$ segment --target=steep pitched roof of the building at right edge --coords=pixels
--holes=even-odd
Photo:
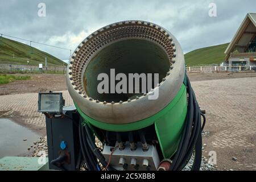
[[[235,48],[246,49],[249,42],[256,35],[256,13],[248,13],[243,19],[241,26],[238,28],[234,38],[226,48],[226,59],[229,59],[230,54]]]

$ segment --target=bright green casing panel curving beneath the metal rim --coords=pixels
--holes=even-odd
[[[185,117],[187,115],[187,90],[183,84],[174,100],[172,100],[164,109],[149,118],[124,125],[115,125],[97,121],[82,113],[76,104],[75,106],[87,124],[108,131],[133,131],[150,125],[155,125],[156,135],[158,136],[163,156],[164,158],[170,158],[177,150]]]

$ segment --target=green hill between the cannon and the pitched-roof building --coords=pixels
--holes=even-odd
[[[199,66],[203,64],[220,64],[225,61],[225,50],[229,43],[218,46],[204,47],[185,54],[187,66]]]

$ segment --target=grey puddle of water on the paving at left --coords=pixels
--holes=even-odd
[[[4,156],[17,156],[27,152],[27,148],[34,141],[40,138],[39,135],[20,126],[10,119],[0,119],[0,158]],[[23,141],[23,139],[27,139]]]

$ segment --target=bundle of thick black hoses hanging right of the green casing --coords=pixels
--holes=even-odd
[[[195,158],[192,165],[192,171],[198,171],[201,166],[202,155],[202,136],[201,132],[205,126],[205,116],[201,112],[199,104],[196,101],[195,93],[187,77],[187,93],[188,93],[188,112],[185,119],[183,133],[177,147],[170,170],[176,171],[183,169],[189,159],[191,158],[193,151],[195,151]],[[201,116],[204,119],[203,126],[201,126]]]

